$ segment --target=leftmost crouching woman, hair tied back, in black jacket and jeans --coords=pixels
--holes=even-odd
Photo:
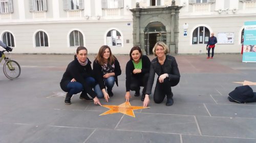
[[[63,77],[60,81],[60,88],[67,92],[65,104],[71,104],[70,100],[73,94],[82,92],[80,99],[86,101],[94,100],[95,104],[100,104],[97,94],[92,90],[95,87],[96,80],[92,77],[91,62],[87,58],[87,48],[78,47],[74,61],[69,63]],[[89,98],[87,93],[93,98]]]

